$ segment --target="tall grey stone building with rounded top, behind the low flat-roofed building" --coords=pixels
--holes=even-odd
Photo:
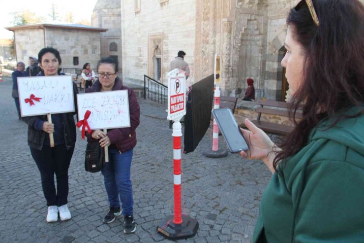
[[[108,29],[101,33],[101,57],[113,56],[122,73],[121,0],[98,0],[92,11],[91,25]]]

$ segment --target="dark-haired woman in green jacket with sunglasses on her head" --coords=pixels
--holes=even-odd
[[[253,242],[364,242],[364,6],[301,0],[287,25],[281,64],[303,118],[279,147],[245,120],[241,155],[273,173]]]

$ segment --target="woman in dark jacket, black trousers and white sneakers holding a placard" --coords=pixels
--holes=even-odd
[[[60,72],[61,56],[58,50],[48,47],[38,53],[41,72],[37,76],[57,76]],[[77,87],[73,84],[74,101]],[[75,106],[77,107],[77,105]],[[68,168],[76,142],[76,126],[73,115],[76,112],[52,114],[52,122],[47,115],[23,117],[28,124],[28,144],[42,181],[47,200],[47,222],[68,220],[71,213],[67,207]],[[49,134],[53,134],[54,147],[51,147]],[[57,190],[54,182],[57,179]]]

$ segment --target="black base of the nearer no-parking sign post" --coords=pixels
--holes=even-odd
[[[157,226],[157,231],[171,240],[187,239],[196,235],[198,222],[187,215],[182,215],[182,224],[173,223],[174,215],[164,217]],[[168,225],[166,226],[167,222]]]

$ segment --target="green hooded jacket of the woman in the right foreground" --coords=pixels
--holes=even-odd
[[[273,174],[253,243],[364,243],[364,115],[327,128]]]

